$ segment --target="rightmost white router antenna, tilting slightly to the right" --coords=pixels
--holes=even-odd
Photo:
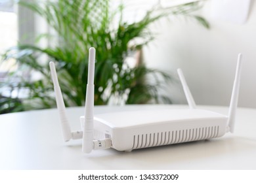
[[[238,63],[236,65],[236,76],[234,79],[234,85],[230,100],[230,107],[228,111],[228,127],[230,132],[234,132],[234,123],[235,123],[235,116],[236,116],[236,107],[238,105],[238,94],[239,94],[239,87],[240,87],[240,77],[241,77],[241,69],[242,68],[242,54],[238,54]]]

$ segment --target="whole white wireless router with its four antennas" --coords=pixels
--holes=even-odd
[[[239,54],[228,116],[196,108],[181,69],[178,69],[178,74],[190,108],[110,112],[94,116],[95,48],[90,48],[85,116],[80,117],[81,131],[70,130],[54,63],[51,62],[51,75],[64,141],[83,139],[82,150],[86,153],[106,148],[131,151],[211,139],[221,137],[228,131],[233,132],[240,86],[241,58],[242,55]]]

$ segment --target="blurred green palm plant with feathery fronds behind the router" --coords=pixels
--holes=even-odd
[[[110,1],[106,0],[20,1],[19,4],[42,16],[56,31],[57,36],[47,34],[41,39],[51,37],[58,44],[47,48],[22,44],[3,54],[2,62],[15,59],[23,69],[9,72],[9,77],[1,82],[0,88],[23,92],[23,97],[16,95],[14,99],[0,100],[0,113],[11,105],[14,111],[55,106],[49,61],[56,63],[66,106],[84,105],[87,58],[91,46],[96,48],[95,105],[105,105],[113,97],[126,104],[158,103],[160,100],[170,103],[168,97],[158,94],[158,88],[171,80],[171,76],[148,69],[141,61],[131,67],[125,58],[154,39],[148,27],[160,18],[182,14],[209,27],[202,17],[190,14],[200,8],[198,2],[170,8],[156,7],[148,10],[140,21],[131,24],[122,19],[123,5],[113,11],[110,10]],[[132,44],[138,39],[139,43]],[[47,56],[47,61],[41,61],[43,55]],[[40,77],[33,80],[28,77],[30,75],[24,75],[31,72],[39,73]],[[153,76],[154,84],[147,82],[148,75]]]

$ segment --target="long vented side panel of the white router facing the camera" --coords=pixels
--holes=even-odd
[[[133,150],[181,142],[221,137],[227,119],[182,121],[112,129],[112,146],[116,150]]]

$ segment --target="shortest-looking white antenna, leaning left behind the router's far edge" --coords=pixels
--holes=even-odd
[[[192,95],[190,93],[190,90],[188,88],[188,84],[186,84],[186,80],[184,78],[184,75],[183,75],[181,69],[177,69],[177,72],[178,72],[179,78],[181,80],[182,88],[183,88],[184,93],[186,95],[186,101],[188,101],[188,106],[190,108],[196,108],[196,103],[195,103],[194,98],[192,97]]]

